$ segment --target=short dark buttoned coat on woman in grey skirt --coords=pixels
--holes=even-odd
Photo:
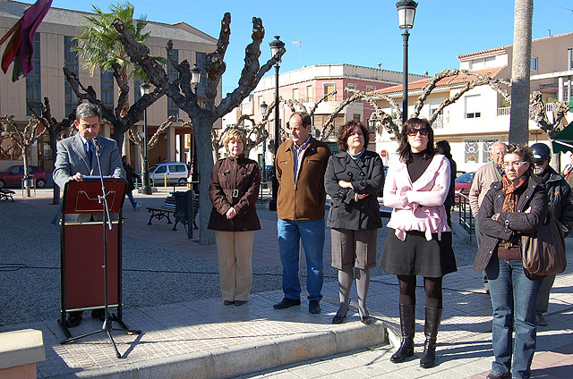
[[[349,181],[353,189],[343,189],[338,181]],[[346,151],[330,156],[324,175],[324,188],[329,194],[327,226],[349,230],[382,227],[376,193],[384,187],[384,166],[378,154],[364,151],[357,164]],[[355,202],[355,193],[370,194]]]

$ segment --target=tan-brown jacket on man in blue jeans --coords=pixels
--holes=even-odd
[[[278,147],[275,167],[279,183],[277,215],[282,220],[320,220],[324,217],[326,191],[324,173],[329,164],[330,147],[311,137],[304,150],[295,186],[293,141]]]

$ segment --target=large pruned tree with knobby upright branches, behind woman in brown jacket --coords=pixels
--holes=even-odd
[[[169,81],[169,77],[164,68],[155,60],[150,59],[150,49],[147,46],[138,43],[119,19],[114,21],[115,29],[120,33],[120,40],[124,44],[125,51],[131,57],[132,62],[141,66],[141,69],[150,82],[161,90],[165,91],[168,97],[175,104],[183,109],[189,115],[195,132],[197,159],[199,164],[199,173],[202,178],[209,178],[213,167],[213,156],[211,154],[211,130],[213,124],[223,115],[228,114],[241,104],[257,86],[265,72],[268,72],[273,64],[280,61],[285,54],[285,48],[281,48],[277,55],[272,56],[264,65],[259,64],[261,55],[261,42],[265,35],[262,27],[262,21],[259,18],[252,18],[252,43],[245,48],[244,68],[241,72],[238,86],[227,94],[219,104],[216,104],[218,95],[218,86],[226,70],[224,62],[225,53],[229,44],[231,14],[225,13],[221,21],[217,48],[214,52],[208,54],[205,59],[205,71],[207,72],[205,88],[205,107],[201,108],[197,101],[197,94],[193,92],[191,84],[191,67],[190,63],[184,60],[181,63],[176,62],[172,54],[172,43],[167,44],[167,60],[173,65],[178,73],[177,78]],[[205,148],[206,147],[206,148]],[[200,184],[200,237],[199,242],[202,245],[214,243],[214,234],[207,229],[209,223],[211,203],[209,196],[209,181],[203,180]]]

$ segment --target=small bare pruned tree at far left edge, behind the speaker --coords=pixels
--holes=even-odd
[[[34,119],[28,120],[28,124],[24,127],[23,131],[18,129],[18,123],[14,121],[14,116],[4,115],[0,118],[0,123],[2,124],[2,129],[8,133],[8,137],[12,139],[13,143],[21,148],[21,156],[24,164],[24,188],[28,191],[28,196],[30,196],[30,182],[27,181],[30,178],[30,146],[36,142],[40,137],[44,135],[47,131],[44,128],[43,131],[37,132],[40,122]]]

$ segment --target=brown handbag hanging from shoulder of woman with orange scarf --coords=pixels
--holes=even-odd
[[[521,236],[521,261],[532,280],[561,274],[567,268],[565,235],[552,209],[537,231]]]

